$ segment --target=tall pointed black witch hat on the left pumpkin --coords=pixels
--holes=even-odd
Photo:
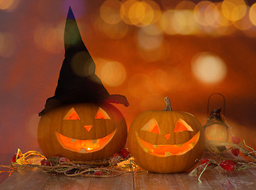
[[[67,13],[64,44],[65,59],[59,72],[55,95],[48,98],[39,116],[53,108],[75,103],[109,102],[128,106],[126,97],[118,94],[109,95],[100,78],[95,74],[94,60],[82,42],[71,7]]]

